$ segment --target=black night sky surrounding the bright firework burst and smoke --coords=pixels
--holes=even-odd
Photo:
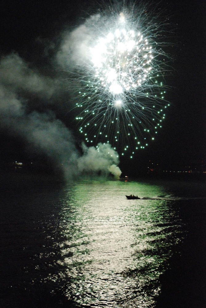
[[[147,149],[139,151],[132,161],[121,161],[120,166],[127,164],[131,169],[146,164],[149,160],[174,166],[205,162],[206,158],[206,3],[203,0],[172,0],[169,5],[162,2],[161,6],[163,10],[166,9],[169,12],[170,22],[175,29],[174,48],[172,48],[174,71],[173,77],[168,79],[170,83],[168,85],[172,89],[168,91],[167,97],[171,107],[168,109],[167,120],[156,141]],[[11,59],[13,55],[13,62],[11,60],[8,63],[3,62],[4,64],[0,67],[1,91],[6,89],[6,94],[0,97],[0,156],[2,160],[30,160],[34,156],[38,159],[45,156],[54,158],[51,152],[55,151],[55,145],[47,155],[41,147],[39,149],[38,142],[28,138],[25,132],[22,133],[24,127],[27,127],[27,131],[32,130],[32,125],[34,129],[37,129],[37,122],[34,123],[33,119],[32,124],[28,124],[31,112],[38,111],[43,114],[48,113],[48,110],[52,111],[51,117],[55,114],[57,119],[73,131],[68,104],[71,97],[67,93],[67,74],[61,75],[51,66],[51,62],[55,61],[62,33],[81,25],[84,18],[96,12],[96,9],[98,9],[96,2],[83,0],[73,4],[63,0],[35,2],[7,0],[1,2],[1,59]],[[26,84],[29,79],[17,81],[20,72],[19,68],[17,69],[17,62],[18,67],[21,67],[21,74],[23,70],[27,76],[31,75],[30,71],[34,75],[43,76],[40,81],[38,80],[37,93],[34,90],[31,91],[31,83],[34,79],[30,79],[30,84]],[[25,63],[27,63],[26,66]],[[6,71],[10,73],[7,75]],[[14,72],[13,79],[12,71]],[[50,84],[49,78],[58,79],[59,82],[55,84],[56,93],[58,93],[56,100],[54,99],[55,94],[50,93],[53,83]],[[41,82],[41,87],[45,85],[46,91],[40,87]],[[14,97],[11,97],[11,93],[14,92],[18,95],[15,99],[21,99],[21,106]],[[46,95],[43,95],[43,92]],[[5,101],[8,97],[12,103],[5,110]],[[18,121],[15,118],[15,112],[18,114],[22,112],[20,110],[22,106],[26,114],[24,124],[19,123],[21,120]],[[58,147],[58,144],[56,146]]]

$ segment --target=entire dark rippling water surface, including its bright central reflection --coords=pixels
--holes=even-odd
[[[203,182],[1,187],[1,307],[206,307]]]

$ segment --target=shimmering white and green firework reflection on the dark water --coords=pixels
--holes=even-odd
[[[157,185],[82,181],[62,200],[60,225],[65,294],[79,307],[152,307],[158,278],[183,237],[171,200]],[[54,278],[50,278],[54,279]]]

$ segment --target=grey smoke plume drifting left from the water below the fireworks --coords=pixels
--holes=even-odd
[[[51,110],[51,102],[61,105],[63,99],[68,100],[69,93],[62,97],[62,87],[61,78],[42,75],[18,54],[2,57],[0,129],[23,138],[28,151],[46,155],[54,166],[61,167],[67,180],[84,174],[112,174],[118,178],[121,171],[114,149],[108,144],[99,144],[98,148],[82,145],[83,154],[80,153],[74,134]],[[39,106],[44,111],[39,111]]]

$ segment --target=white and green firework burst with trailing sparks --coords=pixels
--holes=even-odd
[[[81,44],[73,51],[72,73],[75,119],[87,146],[108,143],[131,158],[155,140],[169,106],[165,22],[134,12],[96,14],[74,31]]]

